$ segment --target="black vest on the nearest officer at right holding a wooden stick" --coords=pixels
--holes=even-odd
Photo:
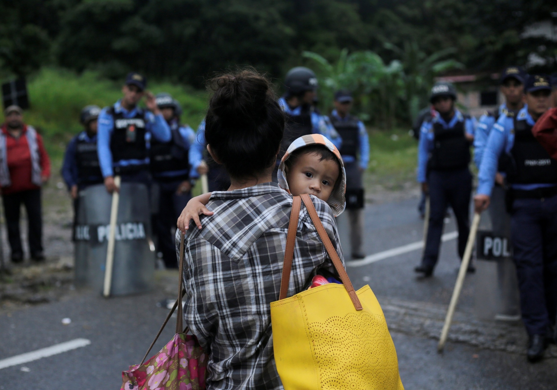
[[[512,166],[507,170],[511,184],[557,183],[557,161],[535,139],[526,120],[514,120],[515,142],[512,145]]]

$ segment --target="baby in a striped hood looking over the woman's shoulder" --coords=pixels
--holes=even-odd
[[[323,135],[311,134],[297,138],[290,144],[278,166],[278,185],[290,194],[311,194],[325,201],[334,216],[344,211],[346,174],[343,160],[335,145]],[[201,229],[199,215],[213,215],[205,205],[211,192],[190,199],[178,219],[183,233],[193,219]]]

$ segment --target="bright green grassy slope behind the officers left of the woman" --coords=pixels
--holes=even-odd
[[[205,115],[207,95],[189,87],[153,82],[153,93],[171,93],[182,105],[182,122],[197,129]],[[95,72],[73,72],[45,68],[28,82],[31,109],[25,121],[37,127],[45,139],[48,153],[59,164],[67,142],[82,130],[81,109],[89,104],[105,107],[121,97],[121,83],[101,78]],[[3,114],[0,114],[3,121]]]

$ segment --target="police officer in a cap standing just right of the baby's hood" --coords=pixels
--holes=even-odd
[[[346,171],[346,209],[350,218],[352,259],[363,259],[365,255],[361,251],[361,241],[364,231],[364,189],[361,176],[368,167],[369,140],[364,124],[350,115],[352,102],[349,91],[337,91],[335,110],[331,112],[329,119],[343,139],[339,151]]]

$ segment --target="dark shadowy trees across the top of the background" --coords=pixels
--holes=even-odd
[[[523,65],[534,53],[551,72],[554,37],[524,32],[555,23],[554,12],[548,0],[3,1],[0,74],[63,66],[121,78],[135,70],[199,88],[231,66],[282,77],[303,51],[334,61],[343,48],[371,50],[384,63],[404,62],[400,51],[423,52],[419,60],[450,49],[485,72]]]

